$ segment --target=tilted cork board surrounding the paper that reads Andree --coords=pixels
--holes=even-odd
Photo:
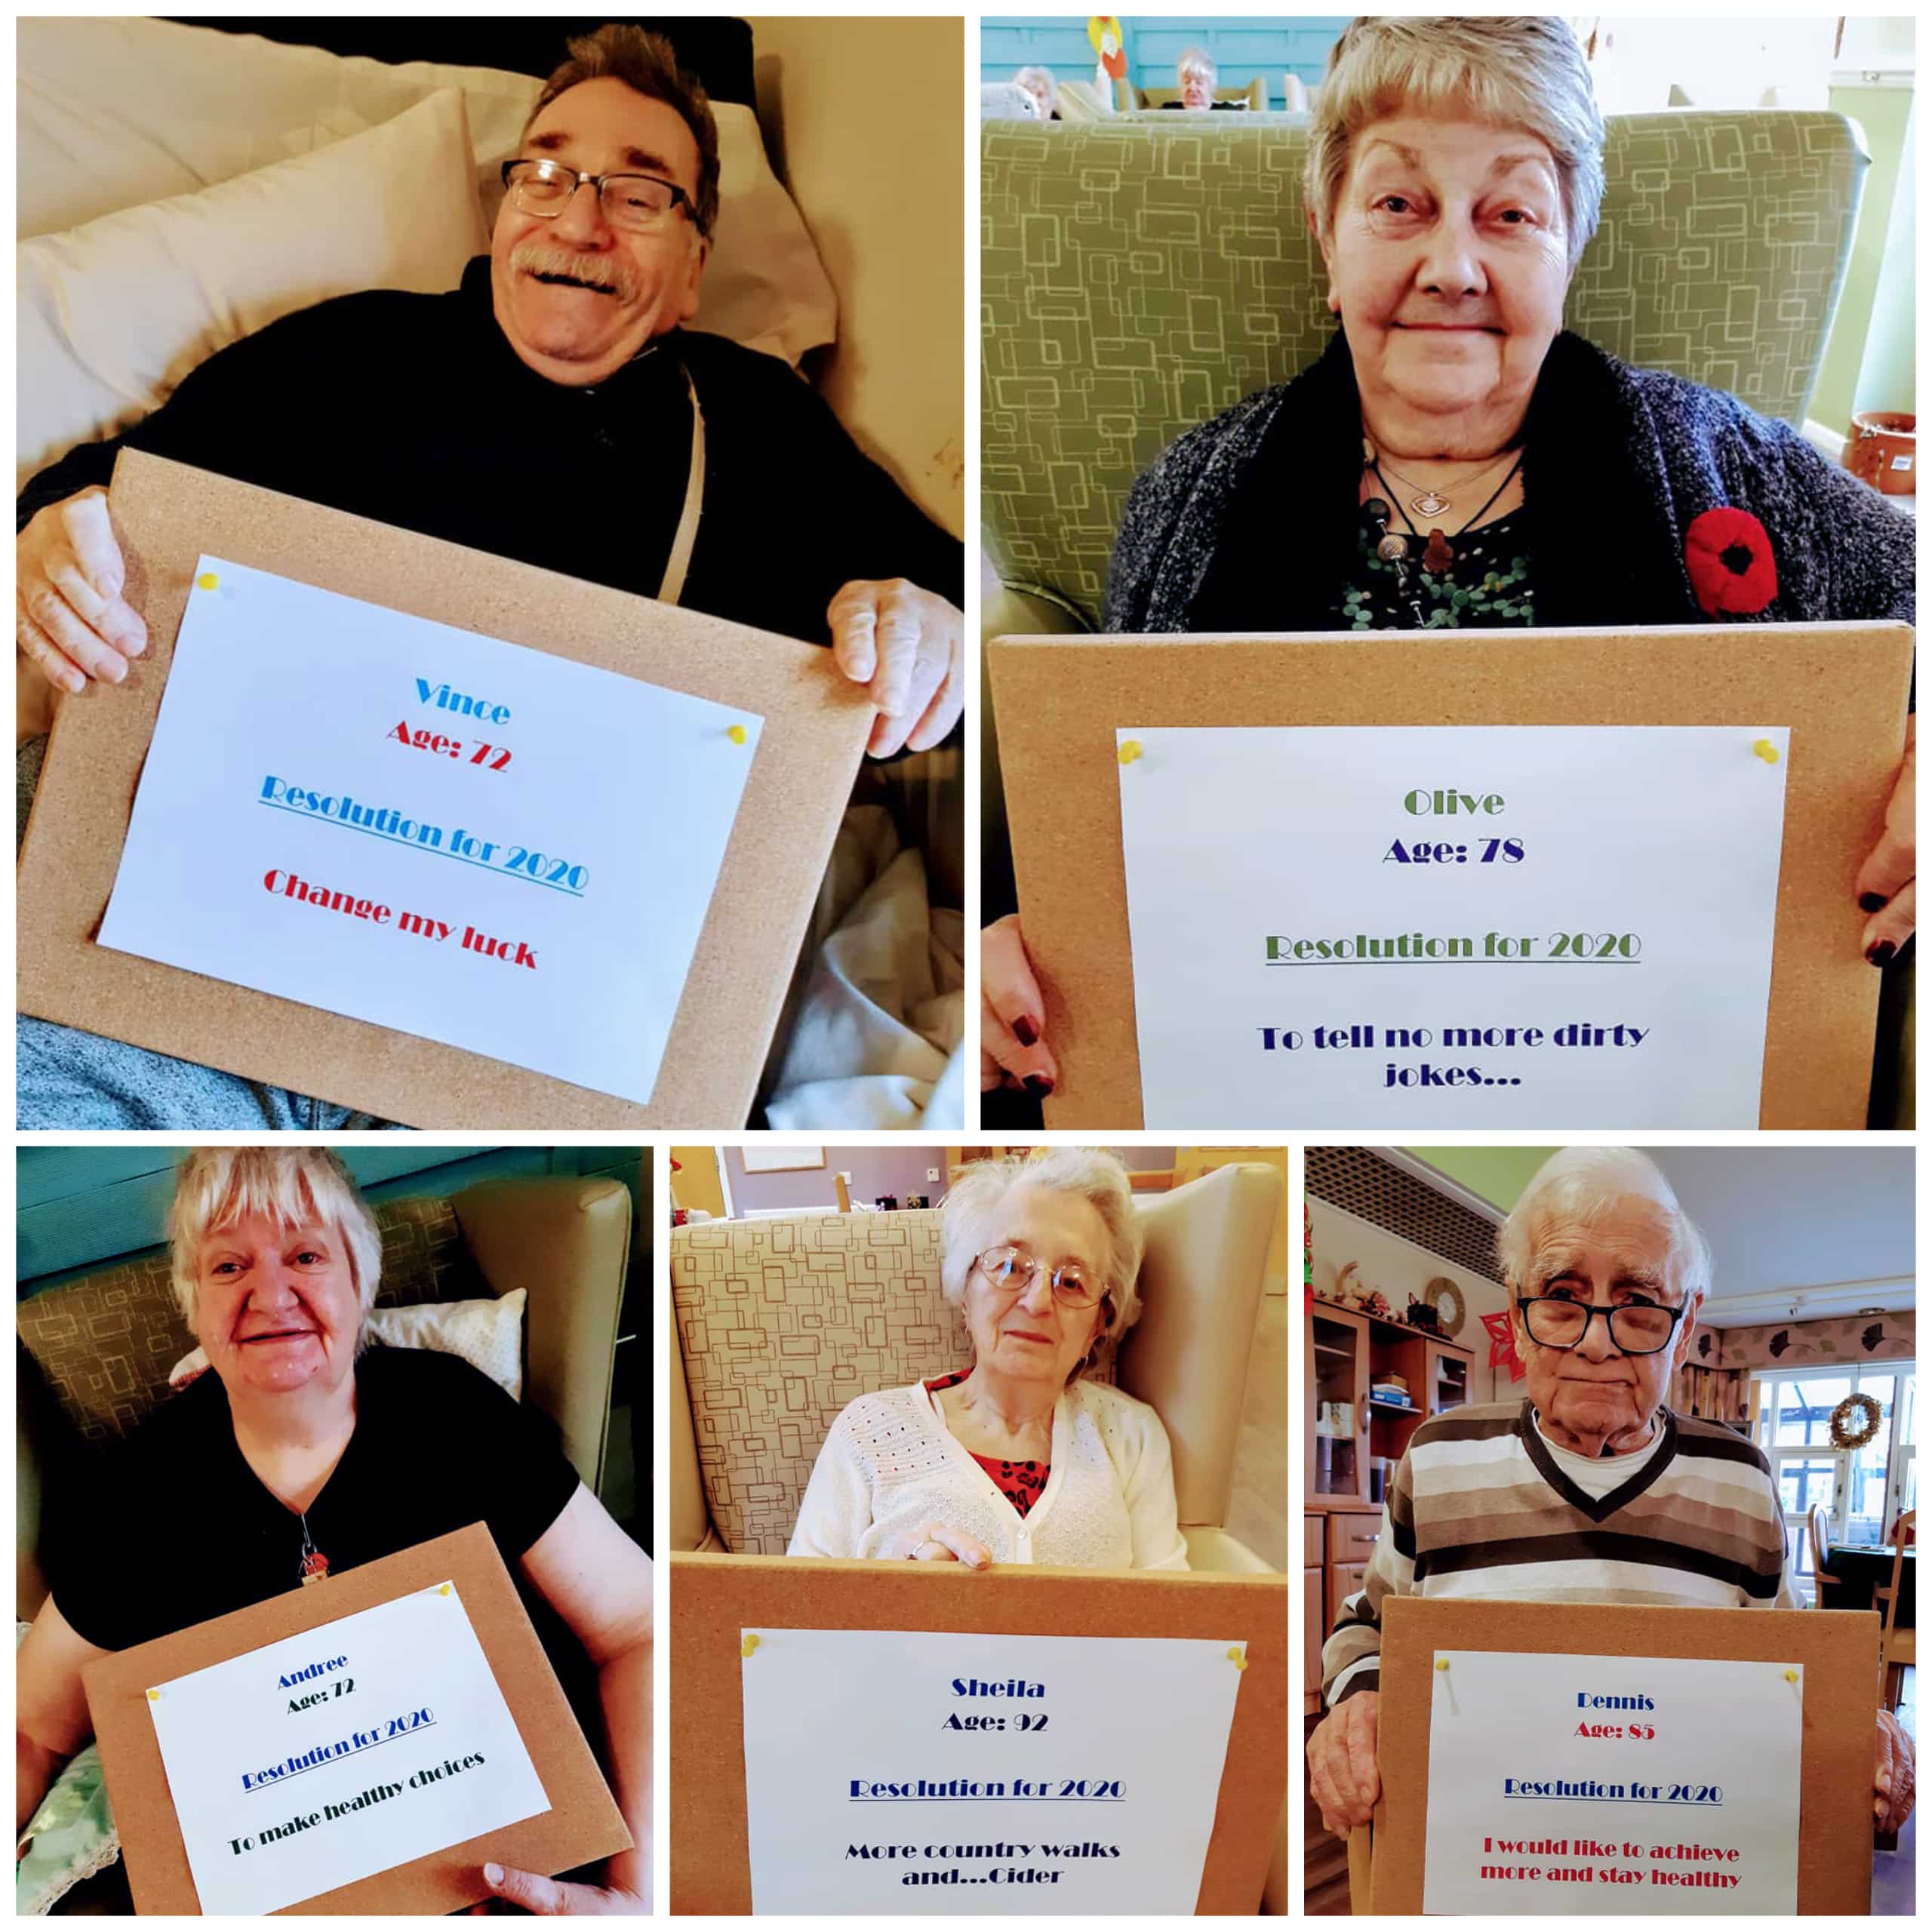
[[[267,1604],[197,1623],[191,1631],[116,1650],[81,1671],[137,1913],[201,1913],[149,1716],[149,1685],[185,1677],[437,1582],[456,1584],[551,1808],[284,1911],[454,1913],[491,1897],[483,1884],[485,1859],[554,1876],[630,1849],[624,1818],[524,1615],[510,1573],[489,1530],[471,1522],[313,1588],[296,1588]]]

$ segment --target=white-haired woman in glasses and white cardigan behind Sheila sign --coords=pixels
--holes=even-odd
[[[788,1553],[1186,1569],[1161,1418],[1092,1374],[1140,1314],[1126,1171],[1084,1148],[976,1163],[941,1225],[972,1368],[846,1405]]]

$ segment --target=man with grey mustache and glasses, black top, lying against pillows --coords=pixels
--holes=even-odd
[[[56,694],[118,684],[147,645],[102,489],[122,446],[829,643],[877,705],[877,757],[952,730],[960,545],[779,357],[684,327],[719,145],[670,44],[638,27],[574,41],[504,182],[491,253],[456,292],[375,290],[284,317],[27,485],[15,742],[48,728]],[[116,1065],[81,1065],[79,1037],[21,1026],[21,1092],[46,1090],[48,1124],[263,1124],[236,1095],[214,1117],[222,1076],[112,1041],[95,1045]],[[75,1088],[112,1088],[112,1117],[81,1119]],[[294,1099],[267,1105],[267,1124],[361,1124]]]

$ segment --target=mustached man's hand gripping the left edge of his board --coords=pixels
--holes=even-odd
[[[108,520],[108,493],[50,502],[14,539],[14,641],[54,690],[89,678],[120,684],[147,649],[147,626],[122,601],[128,566]],[[50,707],[48,707],[50,709]]]

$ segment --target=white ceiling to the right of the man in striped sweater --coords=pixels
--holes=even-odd
[[[1917,1306],[1911,1148],[1646,1148],[1710,1238],[1704,1320]]]

